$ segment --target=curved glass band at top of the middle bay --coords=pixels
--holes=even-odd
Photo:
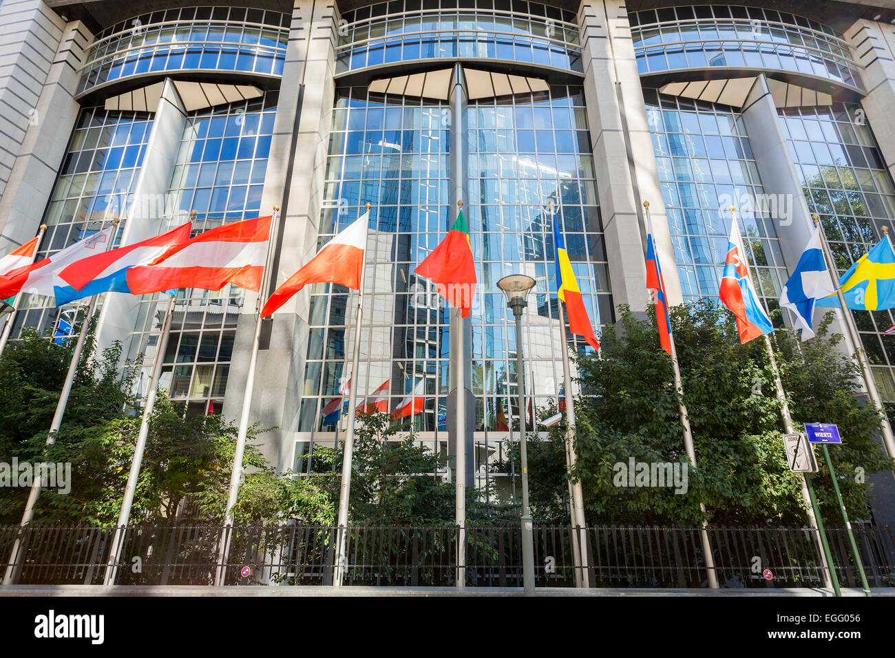
[[[337,73],[420,59],[499,59],[581,73],[575,13],[524,0],[372,4],[342,14]]]

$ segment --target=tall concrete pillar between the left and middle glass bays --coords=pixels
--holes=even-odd
[[[277,205],[282,212],[276,259],[269,272],[274,277],[273,286],[283,283],[317,252],[335,97],[336,30],[337,13],[332,2],[295,0],[261,201],[263,214],[272,212]],[[309,286],[289,300],[267,323],[262,335],[251,417],[263,428],[278,428],[264,434],[261,448],[280,470],[292,467],[307,351],[310,291]],[[236,329],[234,361],[222,412],[228,418],[238,417],[243,404],[241,384],[248,369],[257,296],[246,295]],[[346,345],[352,339],[346,335]]]

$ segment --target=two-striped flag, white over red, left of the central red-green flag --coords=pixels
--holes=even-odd
[[[354,220],[317,252],[311,261],[279,286],[261,309],[261,317],[275,312],[288,299],[309,283],[337,283],[359,290],[363,272],[363,254],[367,249],[367,225],[370,213]]]

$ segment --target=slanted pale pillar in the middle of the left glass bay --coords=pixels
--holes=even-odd
[[[152,119],[140,174],[137,175],[127,208],[123,209],[124,228],[119,242],[122,246],[164,233],[189,219],[187,214],[181,216],[173,209],[168,195],[185,127],[186,109],[174,82],[168,78]],[[176,214],[167,215],[168,212]],[[97,322],[97,346],[100,351],[111,346],[115,340],[120,340],[124,344],[124,355],[128,354],[127,343],[132,339],[133,320],[140,310],[140,300],[139,295],[110,294],[103,298]],[[151,363],[151,359],[152,355],[147,354],[146,363]]]

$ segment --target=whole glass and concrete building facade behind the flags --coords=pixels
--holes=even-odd
[[[618,304],[649,303],[643,201],[672,304],[717,295],[730,206],[771,309],[812,213],[840,271],[891,226],[895,10],[883,4],[3,0],[0,253],[42,223],[47,255],[111,218],[130,244],[191,211],[199,232],[278,206],[266,275],[276,286],[369,203],[358,372],[346,347],[354,291],[309,286],[286,303],[265,325],[252,400],[252,417],[277,428],[265,453],[309,471],[304,455],[337,444],[323,409],[350,379],[360,396],[385,385],[391,407],[418,391],[420,440],[450,453],[459,433],[471,483],[507,491],[507,427],[526,410],[496,284],[537,282],[525,389],[533,406],[557,400],[554,218],[596,325],[613,323]],[[463,321],[413,274],[458,201],[479,280]],[[256,295],[178,296],[163,385],[191,413],[234,418]],[[144,379],[161,297],[99,304],[100,344],[142,355]],[[26,295],[20,308],[13,337],[82,320],[77,303]],[[855,318],[895,404],[895,335],[884,333],[895,320]],[[463,382],[449,367],[457,331]],[[473,411],[460,432],[448,413],[457,389]]]

